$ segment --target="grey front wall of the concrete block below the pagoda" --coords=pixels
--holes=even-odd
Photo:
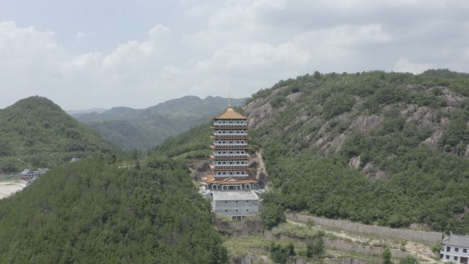
[[[217,200],[213,201],[215,215],[254,216],[259,213],[259,200]]]

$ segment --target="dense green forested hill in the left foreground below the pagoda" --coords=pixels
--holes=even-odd
[[[226,263],[187,166],[88,156],[0,200],[0,263]]]

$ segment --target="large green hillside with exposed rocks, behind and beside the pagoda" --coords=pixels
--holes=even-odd
[[[242,109],[269,173],[265,200],[365,224],[469,232],[468,96],[469,75],[448,70],[316,72],[259,91]],[[155,151],[207,151],[187,134]]]

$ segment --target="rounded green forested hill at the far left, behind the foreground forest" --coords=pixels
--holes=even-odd
[[[29,97],[0,110],[0,171],[53,167],[89,152],[119,148],[49,99]]]

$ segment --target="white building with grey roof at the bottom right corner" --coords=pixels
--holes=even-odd
[[[440,257],[443,262],[468,264],[469,236],[456,235],[453,232],[442,240]]]

